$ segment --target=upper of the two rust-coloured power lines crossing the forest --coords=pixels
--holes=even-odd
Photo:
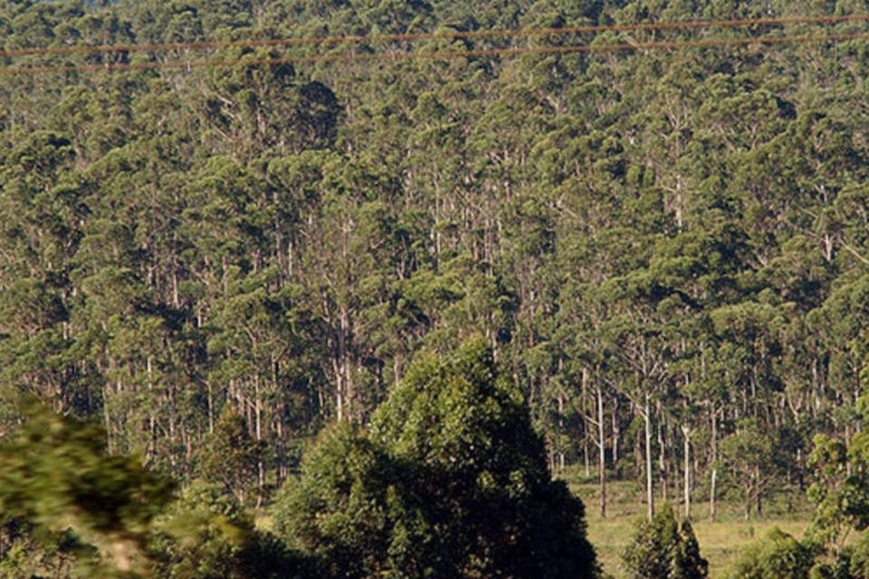
[[[740,20],[687,20],[683,22],[658,22],[640,24],[597,24],[562,28],[498,29],[478,31],[454,31],[448,33],[396,33],[372,35],[309,36],[298,38],[252,39],[239,41],[204,41],[191,43],[145,43],[101,44],[93,46],[55,46],[46,48],[18,48],[0,50],[0,57],[49,56],[104,52],[167,52],[175,50],[204,50],[213,48],[244,48],[263,46],[321,45],[340,43],[387,43],[435,39],[465,38],[510,38],[518,36],[541,36],[548,34],[581,34],[605,32],[698,30],[703,28],[745,28],[749,26],[773,26],[785,24],[839,24],[867,22],[869,14],[791,16],[783,18],[746,18]]]

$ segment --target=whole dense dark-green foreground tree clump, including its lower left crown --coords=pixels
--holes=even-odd
[[[329,429],[275,510],[350,577],[597,576],[583,514],[482,340],[419,356],[368,435]]]

